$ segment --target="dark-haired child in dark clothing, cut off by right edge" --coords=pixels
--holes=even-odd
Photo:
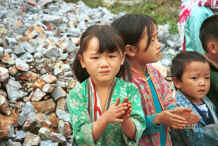
[[[218,113],[218,15],[207,18],[201,25],[200,40],[205,50],[204,57],[210,63],[210,90],[208,98],[215,104]]]

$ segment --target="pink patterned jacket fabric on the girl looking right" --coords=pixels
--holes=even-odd
[[[163,110],[167,110],[169,106],[176,105],[176,99],[173,98],[173,93],[170,90],[169,83],[164,79],[160,72],[152,67],[152,65],[147,65],[148,73],[150,79],[152,80],[157,95],[159,97],[159,102],[163,106]],[[131,70],[132,82],[136,84],[139,88],[141,94],[142,108],[146,115],[156,114],[156,110],[153,106],[153,98],[149,95],[149,85],[145,84],[145,78],[141,76],[138,72]],[[147,82],[147,80],[146,80]],[[168,128],[167,128],[168,129]],[[166,129],[166,146],[172,146],[171,138],[169,136],[168,130]],[[140,146],[160,146],[160,133],[152,133],[146,136],[142,136]]]

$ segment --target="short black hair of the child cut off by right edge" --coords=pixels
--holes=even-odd
[[[206,52],[208,41],[218,41],[218,15],[213,15],[202,23],[200,29],[200,40]]]

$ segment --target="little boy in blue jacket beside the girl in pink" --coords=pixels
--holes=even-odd
[[[199,115],[200,121],[184,130],[172,130],[175,146],[217,146],[217,115],[213,103],[206,97],[210,89],[210,66],[197,52],[182,52],[172,61],[171,74],[175,87],[177,104],[188,107]],[[191,118],[191,117],[190,117]],[[211,127],[208,129],[207,125]]]

